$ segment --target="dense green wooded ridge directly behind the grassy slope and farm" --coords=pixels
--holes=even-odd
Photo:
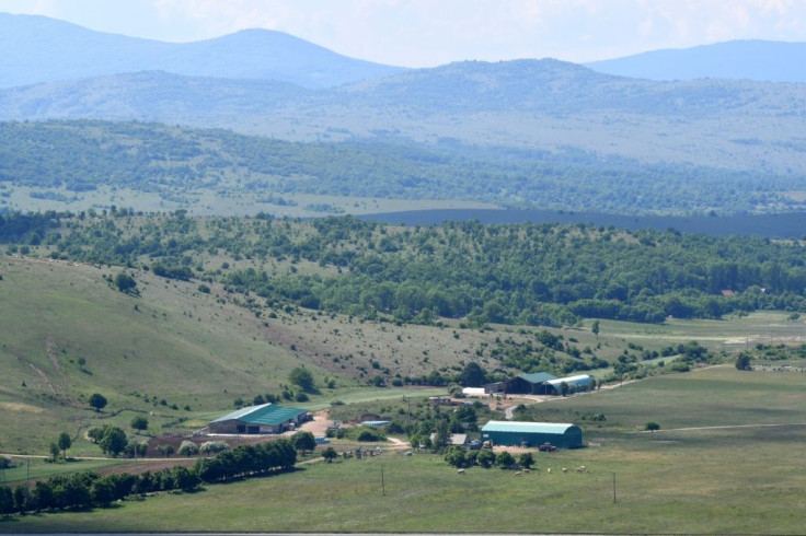
[[[658,323],[806,311],[801,241],[585,224],[199,219],[125,209],[7,214],[0,241],[9,254],[222,283],[250,296],[245,304],[258,313],[296,304],[406,323],[449,317],[470,326],[557,326],[583,317]],[[278,263],[287,268],[278,270]]]

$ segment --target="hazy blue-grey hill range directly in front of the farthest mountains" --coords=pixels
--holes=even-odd
[[[452,155],[482,147],[503,163],[511,150],[583,152],[764,182],[806,175],[804,103],[803,84],[653,82],[555,60],[467,61],[327,90],[168,73],[60,81],[0,91],[0,119],[159,121],[289,141],[415,142]]]

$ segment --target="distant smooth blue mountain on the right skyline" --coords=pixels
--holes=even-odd
[[[648,80],[733,79],[806,82],[806,43],[730,40],[654,50],[586,63],[595,71]]]

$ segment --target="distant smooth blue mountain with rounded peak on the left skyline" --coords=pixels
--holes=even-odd
[[[38,15],[0,13],[0,88],[140,71],[275,80],[332,88],[401,72],[347,58],[281,32],[245,30],[195,43],[94,32]]]

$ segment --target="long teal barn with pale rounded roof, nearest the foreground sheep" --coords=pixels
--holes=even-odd
[[[559,448],[578,448],[583,446],[583,431],[567,423],[490,421],[482,428],[482,441],[491,441],[494,445],[551,443]]]

